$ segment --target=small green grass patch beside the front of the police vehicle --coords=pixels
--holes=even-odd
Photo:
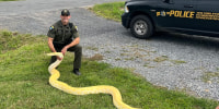
[[[96,4],[91,10],[105,19],[120,21],[120,15],[124,13],[125,2],[113,2],[113,3],[103,3]]]

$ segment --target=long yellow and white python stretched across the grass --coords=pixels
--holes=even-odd
[[[58,56],[60,58],[64,58],[61,52],[47,53],[47,56]],[[58,81],[60,73],[55,68],[58,66],[61,60],[57,60],[48,66],[48,72],[50,73],[49,84],[51,86],[73,95],[88,95],[99,93],[111,94],[113,96],[114,106],[116,106],[118,109],[136,109],[123,102],[119,90],[114,86],[99,85],[90,87],[71,87],[68,84]]]

